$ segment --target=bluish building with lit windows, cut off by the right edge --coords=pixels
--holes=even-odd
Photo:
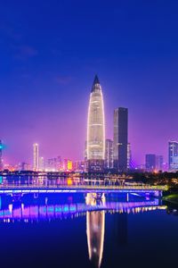
[[[169,171],[174,172],[178,170],[178,142],[169,141],[168,143],[168,163]]]

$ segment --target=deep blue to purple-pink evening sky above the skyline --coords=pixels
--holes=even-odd
[[[178,1],[6,0],[0,4],[0,138],[8,163],[83,159],[98,74],[107,138],[129,111],[134,163],[178,139]]]

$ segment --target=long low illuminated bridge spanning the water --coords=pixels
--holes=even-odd
[[[103,186],[103,185],[1,185],[2,194],[40,194],[40,193],[144,193],[160,197],[162,191],[166,191],[166,186]]]

